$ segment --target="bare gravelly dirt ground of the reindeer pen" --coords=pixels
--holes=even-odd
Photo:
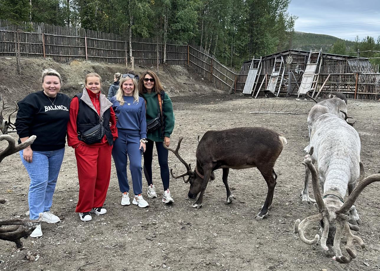
[[[42,224],[41,238],[24,240],[25,249],[0,240],[0,268],[4,270],[380,270],[380,184],[367,187],[355,206],[363,220],[357,234],[366,243],[358,248],[358,257],[348,265],[325,257],[320,243],[309,246],[293,234],[294,221],[316,214],[312,206],[302,205],[303,149],[307,145],[307,114],[250,114],[252,111],[297,110],[308,112],[313,102],[285,99],[234,99],[203,92],[172,95],[176,125],[171,147],[184,136],[180,154],[195,165],[197,136],[208,130],[242,126],[263,126],[285,135],[288,144],[275,170],[278,175],[273,209],[269,217],[256,221],[254,216],[263,205],[266,183],[256,169],[230,170],[229,184],[236,196],[225,205],[226,191],[222,170],[215,171],[205,192],[203,207],[192,208],[195,200],[187,199],[189,184],[171,178],[173,205],[161,199],[147,199],[149,208],[120,205],[121,194],[112,162],[111,183],[105,208],[108,213],[82,222],[74,213],[78,200],[78,175],[73,149],[67,147],[54,194],[52,212],[61,218],[57,224]],[[361,161],[367,176],[379,173],[380,103],[348,101],[348,112],[355,117],[361,138]],[[16,135],[13,134],[16,138]],[[247,139],[249,140],[249,139]],[[0,149],[5,144],[0,143]],[[156,155],[156,154],[154,154]],[[154,183],[161,194],[157,156],[154,156]],[[185,167],[169,154],[169,167],[179,174]],[[27,217],[29,178],[17,154],[0,164],[1,218]],[[128,176],[130,174],[128,173]],[[311,186],[311,185],[310,185]],[[143,180],[146,189],[146,181]],[[310,188],[311,189],[311,188]],[[317,224],[307,233],[318,232]],[[345,240],[342,241],[342,244]],[[344,251],[344,245],[342,245]],[[35,261],[27,259],[32,255]],[[37,256],[38,255],[38,256]],[[29,257],[30,258],[30,257]],[[86,265],[88,264],[88,265]]]

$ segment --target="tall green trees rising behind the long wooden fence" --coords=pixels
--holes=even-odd
[[[5,19],[28,21],[29,0],[0,0]],[[253,56],[289,49],[290,0],[32,0],[32,20],[129,37],[194,41],[239,67]]]

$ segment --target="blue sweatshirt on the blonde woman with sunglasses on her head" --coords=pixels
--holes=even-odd
[[[133,102],[133,96],[123,96],[123,99],[124,104],[121,106],[115,96],[111,98],[112,109],[117,117],[117,129],[127,134],[139,134],[141,138],[146,138],[146,109],[144,99],[139,97],[138,103]]]

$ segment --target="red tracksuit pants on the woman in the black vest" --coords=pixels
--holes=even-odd
[[[111,178],[111,152],[108,143],[102,147],[79,145],[75,149],[79,179],[77,213],[103,206]]]

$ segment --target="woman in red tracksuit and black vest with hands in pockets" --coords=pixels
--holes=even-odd
[[[82,221],[90,221],[90,213],[107,213],[103,203],[111,177],[112,145],[117,138],[115,112],[112,103],[100,93],[100,82],[101,77],[97,73],[86,75],[83,93],[71,100],[67,124],[67,143],[75,149],[78,166],[79,200],[76,212]],[[105,131],[100,142],[83,142],[81,135],[100,123]]]

